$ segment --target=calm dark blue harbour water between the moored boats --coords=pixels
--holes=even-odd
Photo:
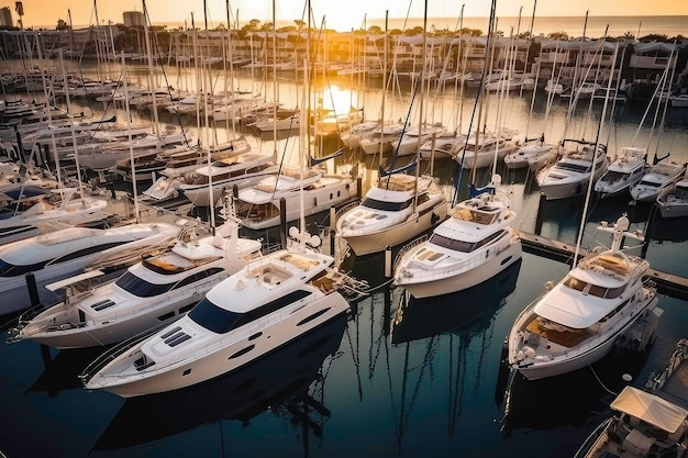
[[[289,83],[280,89],[296,94]],[[370,91],[366,105],[376,107],[379,97]],[[466,116],[471,97],[466,94]],[[406,108],[403,96],[393,102],[396,116],[408,109],[408,97]],[[435,107],[443,104],[437,115],[450,120],[454,96],[440,94],[436,102]],[[552,138],[563,135],[564,101],[555,101],[545,119],[541,94],[529,123],[530,103],[528,96],[509,99],[510,127],[518,129],[519,135],[526,129]],[[609,138],[610,154],[629,144],[645,108],[640,102],[617,108],[612,130],[602,133]],[[582,127],[581,120],[599,119],[601,104],[579,111],[577,135],[587,129],[585,136],[592,137],[597,124]],[[134,121],[145,118],[134,114]],[[206,138],[193,124],[195,120],[185,122],[192,135]],[[220,129],[222,135],[228,133]],[[653,135],[655,141],[658,135]],[[293,155],[293,161],[298,148],[292,138],[276,146],[280,154]],[[639,138],[652,139],[647,125]],[[686,109],[667,112],[661,138],[661,156],[670,150],[674,160],[688,160]],[[273,147],[267,138],[254,139]],[[329,150],[335,147],[326,145]],[[378,164],[364,156],[347,152],[332,167],[358,164],[367,182]],[[447,194],[460,177],[459,196],[466,196],[468,174],[456,169],[454,163],[437,163],[434,170]],[[481,171],[478,185],[487,182],[489,175]],[[540,211],[543,236],[576,242],[582,200],[546,202],[539,209],[532,176],[504,171],[503,177],[511,186],[522,231],[534,232]],[[650,205],[629,205],[628,198],[593,200],[581,245],[609,245],[608,234],[596,233],[595,227],[600,221],[615,221],[622,212],[629,213],[631,228],[645,230],[650,211]],[[655,222],[647,250],[654,268],[688,276],[685,222]],[[517,377],[507,390],[501,365],[504,336],[521,310],[544,291],[544,283],[564,277],[566,264],[526,253],[519,265],[486,283],[419,301],[384,286],[382,256],[346,262],[353,276],[379,286],[352,304],[347,320],[333,322],[235,375],[179,393],[125,401],[89,392],[77,376],[99,349],[57,351],[30,342],[0,343],[0,451],[10,458],[567,457],[610,414],[612,392],[623,384],[621,375],[630,373],[632,383],[642,386],[664,368],[688,329],[688,304],[663,295],[658,306],[664,314],[646,351],[615,351],[592,369],[550,380]],[[3,329],[13,324],[11,317],[2,323]]]

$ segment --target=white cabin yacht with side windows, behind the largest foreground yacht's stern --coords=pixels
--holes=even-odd
[[[282,167],[279,174],[240,190],[236,213],[242,225],[264,230],[279,225],[281,199],[286,205],[285,221],[291,222],[300,217],[301,211],[309,216],[348,202],[357,194],[356,182],[349,176]]]

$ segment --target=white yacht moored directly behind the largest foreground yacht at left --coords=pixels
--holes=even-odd
[[[197,238],[192,228],[182,231],[171,248],[145,257],[115,281],[85,290],[65,284],[64,301],[22,314],[10,339],[60,349],[122,342],[178,320],[259,255],[260,242],[240,238],[234,221],[218,227],[214,236]]]

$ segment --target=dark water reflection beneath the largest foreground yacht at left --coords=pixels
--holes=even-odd
[[[152,443],[214,422],[222,429],[223,420],[237,420],[247,427],[266,410],[300,427],[308,449],[308,438],[320,437],[330,417],[323,387],[346,323],[347,315],[341,315],[228,377],[171,393],[127,399],[93,450]]]

